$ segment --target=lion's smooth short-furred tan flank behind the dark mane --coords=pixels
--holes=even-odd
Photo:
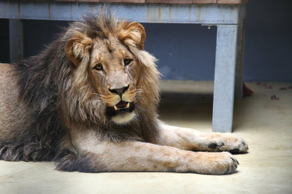
[[[16,140],[25,133],[30,115],[19,98],[13,66],[0,63],[0,141]]]

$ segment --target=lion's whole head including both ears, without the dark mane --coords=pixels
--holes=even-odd
[[[135,118],[135,105],[142,91],[140,87],[149,87],[141,85],[141,80],[156,77],[151,77],[151,73],[149,75],[143,73],[146,71],[145,68],[148,68],[148,71],[153,68],[153,73],[156,73],[154,64],[146,67],[138,62],[137,55],[144,57],[149,55],[142,51],[144,40],[145,29],[141,24],[122,22],[106,37],[90,38],[86,32],[76,32],[66,43],[66,56],[76,67],[73,73],[76,89],[90,101],[89,103],[98,102],[96,103],[98,106],[89,108],[104,109],[101,112],[105,112],[113,123],[125,124]],[[150,55],[148,58],[153,61]],[[84,86],[88,83],[90,89],[84,90],[89,88]]]

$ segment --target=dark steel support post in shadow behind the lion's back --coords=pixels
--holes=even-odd
[[[10,63],[23,59],[23,23],[20,19],[9,19]]]

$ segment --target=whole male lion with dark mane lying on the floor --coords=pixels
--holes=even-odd
[[[144,40],[138,22],[86,14],[39,55],[1,64],[0,158],[93,173],[233,172],[225,151],[246,152],[243,139],[159,121],[159,72]]]

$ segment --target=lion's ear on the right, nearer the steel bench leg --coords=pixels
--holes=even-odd
[[[144,48],[146,37],[145,29],[139,22],[123,22],[119,26],[119,39],[126,45],[137,46],[141,50]]]

